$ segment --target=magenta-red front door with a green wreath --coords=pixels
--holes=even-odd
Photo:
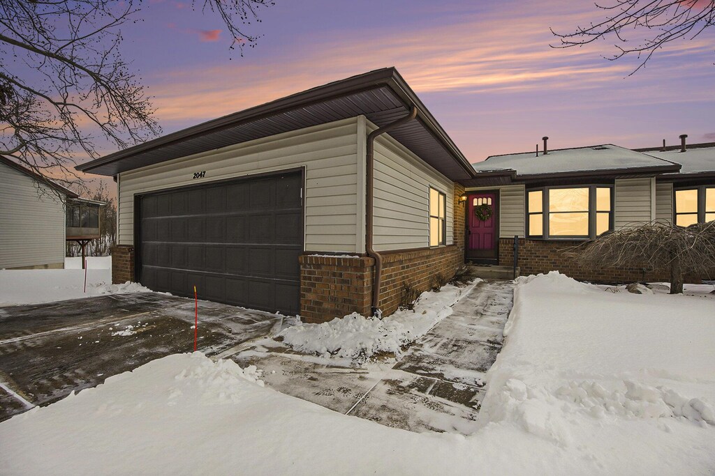
[[[467,196],[467,258],[496,258],[496,193]]]

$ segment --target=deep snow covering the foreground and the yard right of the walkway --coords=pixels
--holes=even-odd
[[[715,472],[709,299],[522,278],[481,427],[413,433],[260,385],[255,369],[171,355],[0,423],[15,474]]]

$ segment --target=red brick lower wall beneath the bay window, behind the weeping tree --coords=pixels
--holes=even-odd
[[[513,264],[513,238],[499,240],[499,264],[511,266]],[[548,273],[558,270],[571,278],[592,281],[594,283],[633,283],[634,281],[669,281],[667,270],[641,268],[582,268],[575,258],[566,255],[566,248],[577,242],[525,240],[519,239],[518,266],[521,275]],[[699,283],[697,276],[686,276],[686,282]]]

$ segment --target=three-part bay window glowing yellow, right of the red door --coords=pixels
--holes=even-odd
[[[613,228],[611,187],[545,187],[527,192],[532,238],[596,238]]]

